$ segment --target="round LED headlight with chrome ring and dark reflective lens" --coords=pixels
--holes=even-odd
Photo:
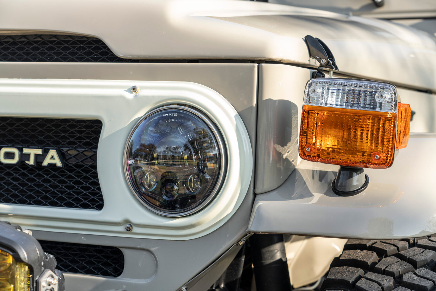
[[[164,216],[204,208],[222,185],[226,152],[216,126],[184,106],[164,106],[133,128],[124,153],[136,197]]]

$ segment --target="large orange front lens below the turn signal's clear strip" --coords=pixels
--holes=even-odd
[[[395,151],[397,114],[303,106],[300,157],[364,168],[388,168]]]

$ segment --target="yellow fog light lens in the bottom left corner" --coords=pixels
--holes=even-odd
[[[0,250],[0,291],[30,291],[29,267],[3,250]]]

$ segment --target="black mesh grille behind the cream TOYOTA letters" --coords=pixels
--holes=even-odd
[[[97,176],[100,120],[0,117],[0,147],[56,149],[64,167],[0,163],[0,202],[68,208],[103,208]],[[22,155],[21,160],[29,160]]]

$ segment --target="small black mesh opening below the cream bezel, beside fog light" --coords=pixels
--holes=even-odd
[[[118,277],[123,273],[123,252],[113,246],[59,243],[40,240],[42,249],[52,254],[62,272]]]

